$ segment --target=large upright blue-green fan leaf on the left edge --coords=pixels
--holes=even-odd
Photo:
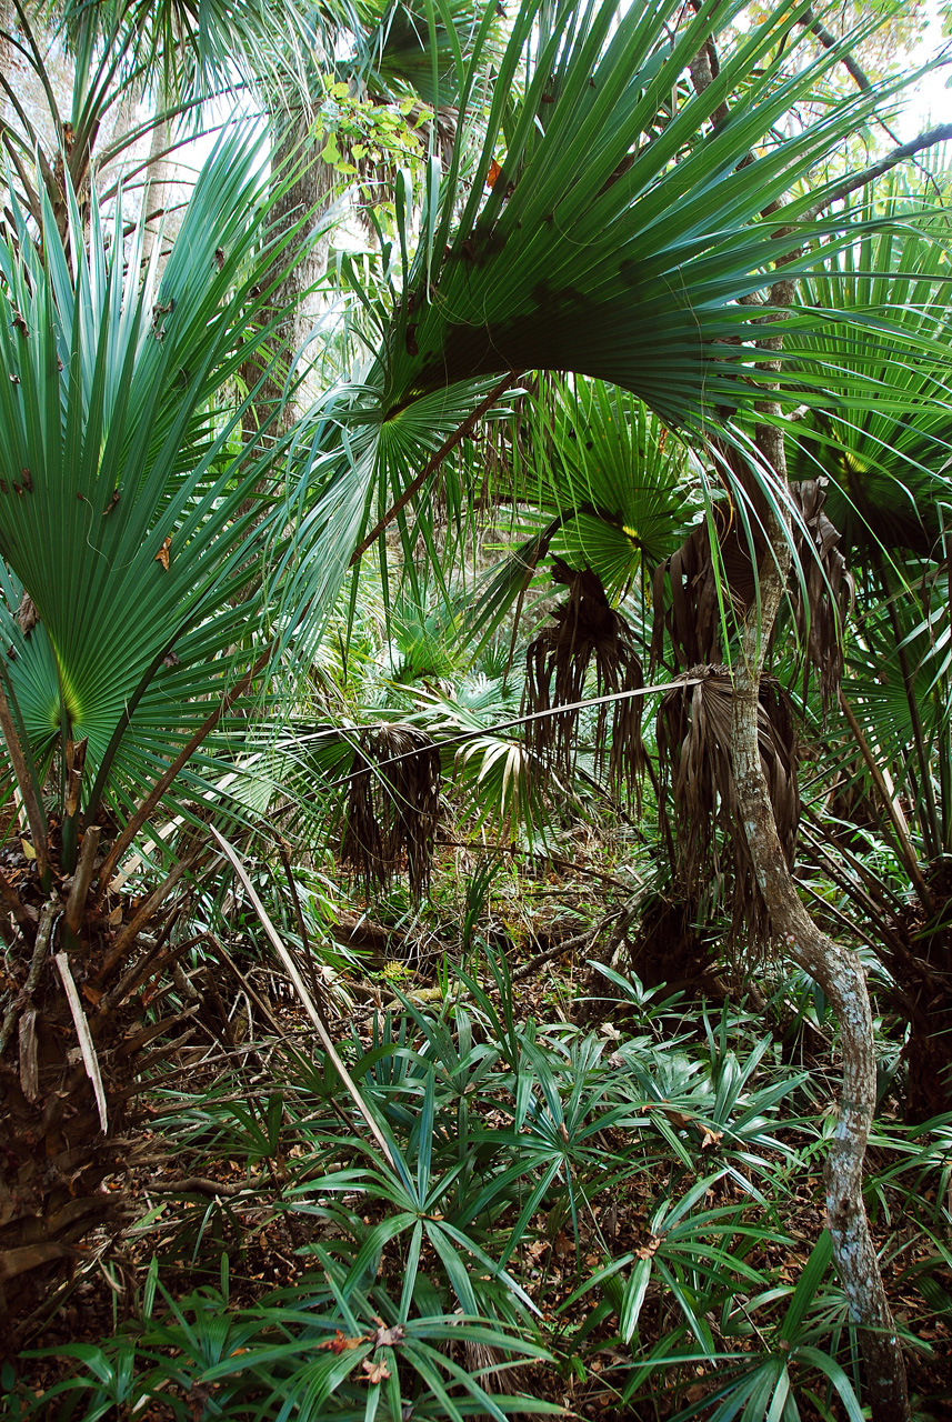
[[[43,256],[26,228],[0,245],[4,681],[38,762],[88,738],[92,776],[125,735],[134,795],[266,630],[281,448],[247,444],[243,402],[222,400],[250,353],[267,363],[264,212],[239,134],[209,161],[158,286],[153,269],[139,287],[139,236],[128,263],[114,256],[121,209],[108,232],[94,206],[88,252],[75,205],[70,253],[51,212]],[[13,620],[24,589],[28,636]]]

